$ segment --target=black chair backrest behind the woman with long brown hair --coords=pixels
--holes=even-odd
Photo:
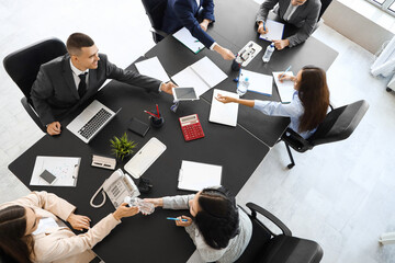
[[[307,140],[313,145],[347,139],[366,113],[369,104],[361,100],[329,112],[314,135]]]

